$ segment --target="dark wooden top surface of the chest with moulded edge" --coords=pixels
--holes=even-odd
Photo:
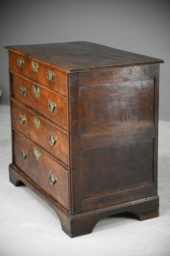
[[[16,53],[20,52],[36,57],[42,61],[57,65],[59,69],[67,72],[163,62],[162,59],[86,41],[6,46],[4,48]]]

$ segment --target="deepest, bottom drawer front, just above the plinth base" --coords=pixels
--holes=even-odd
[[[13,131],[13,162],[58,203],[69,209],[67,169],[16,131]]]

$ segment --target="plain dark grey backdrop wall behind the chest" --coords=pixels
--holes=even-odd
[[[13,0],[0,7],[0,104],[9,104],[7,50],[91,41],[161,58],[159,118],[170,120],[169,0]]]

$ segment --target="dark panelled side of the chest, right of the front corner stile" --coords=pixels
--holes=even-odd
[[[82,210],[154,196],[158,65],[78,76]]]

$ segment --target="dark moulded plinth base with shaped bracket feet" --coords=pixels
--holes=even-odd
[[[14,165],[9,165],[9,178],[13,185],[24,183],[38,194],[56,212],[60,219],[63,231],[74,238],[80,235],[92,233],[94,226],[102,218],[118,213],[134,213],[139,220],[159,217],[159,197],[154,196],[141,200],[122,203],[116,206],[89,211],[76,215],[70,215],[54,199],[49,197],[34,181],[31,181],[24,173]]]

